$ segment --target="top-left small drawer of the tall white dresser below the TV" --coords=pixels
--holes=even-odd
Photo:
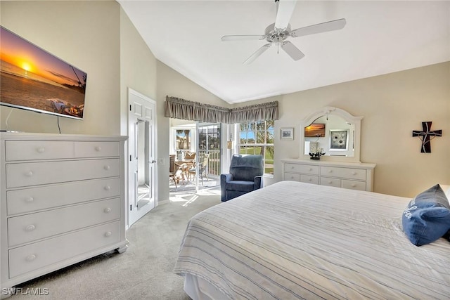
[[[5,141],[7,162],[74,157],[71,141]]]

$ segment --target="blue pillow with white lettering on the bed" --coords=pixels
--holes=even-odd
[[[411,200],[401,216],[401,224],[416,246],[446,235],[450,230],[450,208],[442,188],[435,185]]]

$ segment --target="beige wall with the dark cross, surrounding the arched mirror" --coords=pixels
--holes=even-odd
[[[280,159],[299,157],[300,120],[324,106],[335,106],[361,121],[361,162],[373,162],[374,190],[413,197],[436,183],[450,184],[450,63],[420,67],[368,79],[349,81],[270,98],[280,101],[282,127],[295,127],[294,141],[276,136],[276,174]],[[412,131],[432,121],[443,136],[431,142],[431,153],[420,153],[420,140]]]

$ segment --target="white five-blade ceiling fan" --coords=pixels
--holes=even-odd
[[[308,34],[340,30],[345,26],[345,19],[339,19],[291,30],[289,20],[297,2],[275,0],[275,3],[276,20],[273,24],[266,27],[264,35],[224,35],[221,38],[222,41],[266,40],[269,42],[247,58],[243,63],[244,65],[252,63],[273,44],[276,44],[278,47],[281,46],[285,53],[288,53],[293,60],[300,60],[300,58],[304,57],[304,54],[293,43],[286,40],[288,37],[302,37]]]

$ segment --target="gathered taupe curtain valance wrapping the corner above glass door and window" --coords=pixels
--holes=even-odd
[[[211,123],[242,123],[278,119],[278,101],[226,108],[166,96],[165,117]]]

